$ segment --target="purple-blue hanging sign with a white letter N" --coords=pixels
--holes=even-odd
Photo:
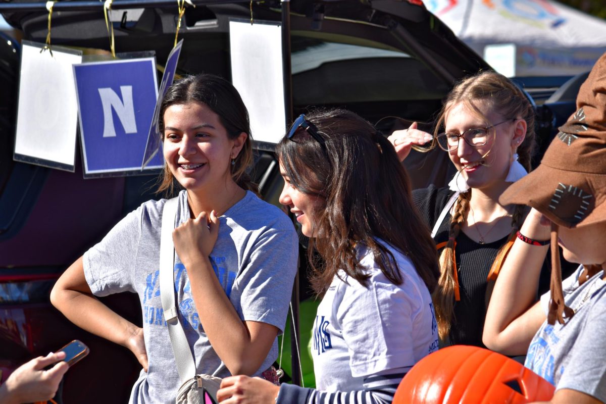
[[[158,82],[156,59],[75,65],[84,176],[141,174]],[[146,170],[161,168],[156,155]]]

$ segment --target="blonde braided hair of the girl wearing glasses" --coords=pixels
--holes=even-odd
[[[503,119],[524,119],[527,123],[527,131],[524,142],[518,147],[519,162],[530,171],[530,161],[534,151],[534,109],[524,93],[510,79],[494,71],[484,71],[475,76],[463,79],[447,96],[442,111],[436,124],[436,134],[444,127],[445,116],[456,105],[464,104],[468,110],[475,111],[484,119],[487,126],[496,122],[490,122],[487,117],[482,116],[473,102],[485,102],[488,107],[496,111]],[[494,129],[492,129],[494,131]],[[490,154],[491,151],[488,151]],[[439,257],[440,277],[438,287],[433,294],[438,320],[438,333],[442,340],[446,340],[450,334],[450,326],[454,314],[454,240],[461,231],[461,226],[467,219],[469,213],[469,201],[472,190],[461,193],[454,204],[450,228],[448,229],[448,243]],[[524,205],[516,205],[511,217],[511,233],[507,241],[513,240],[524,219]],[[493,267],[502,262],[502,257],[507,253],[507,243],[497,253]],[[491,270],[494,268],[491,268]]]

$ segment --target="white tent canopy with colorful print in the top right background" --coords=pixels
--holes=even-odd
[[[606,51],[606,21],[551,0],[424,0],[471,48],[512,75],[574,75]],[[493,45],[513,44],[512,47]],[[494,61],[488,60],[494,64]],[[495,66],[496,67],[496,66]]]

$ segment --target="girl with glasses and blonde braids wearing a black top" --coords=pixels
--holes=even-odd
[[[413,124],[389,139],[401,160],[413,147],[437,144],[458,171],[448,187],[415,190],[413,200],[439,253],[433,301],[441,343],[484,346],[491,285],[525,216],[524,205],[500,204],[499,196],[530,169],[534,110],[509,79],[485,71],[450,91],[435,136]]]

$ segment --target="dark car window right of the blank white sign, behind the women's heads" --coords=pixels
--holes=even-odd
[[[448,85],[421,61],[399,50],[293,35],[296,107],[339,106],[370,121],[395,115],[430,119]],[[375,123],[373,122],[373,123]]]

